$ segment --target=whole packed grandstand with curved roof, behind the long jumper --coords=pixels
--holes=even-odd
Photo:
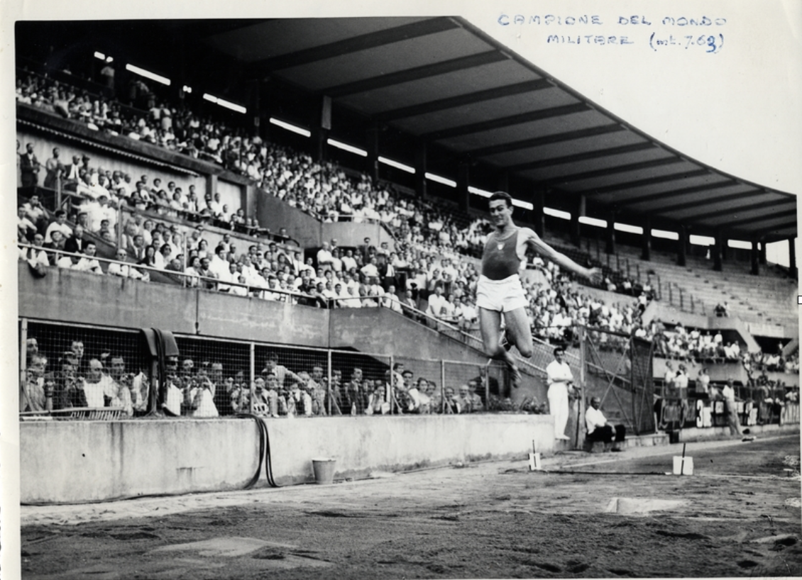
[[[796,196],[689,159],[464,18],[18,22],[15,83],[23,457],[49,449],[23,461],[25,501],[253,485],[268,432],[271,483],[326,454],[347,474],[525,453],[532,433],[581,448],[590,397],[632,445],[724,433],[727,381],[744,427],[799,421]],[[528,256],[520,389],[476,310],[497,190],[604,273]],[[433,436],[454,441],[416,455]],[[43,477],[87,446],[91,469]]]

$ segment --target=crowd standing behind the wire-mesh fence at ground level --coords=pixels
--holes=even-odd
[[[464,381],[456,378],[456,383],[444,385],[444,389],[426,377],[415,377],[400,363],[374,373],[363,373],[354,365],[346,376],[342,369],[333,369],[329,384],[322,365],[296,372],[278,364],[275,352],[266,356],[253,389],[244,369],[226,366],[219,358],[168,357],[164,401],[160,409],[151,409],[148,376],[141,370],[127,372],[123,354],[95,348],[96,354],[93,351],[89,355],[81,338],[68,344],[70,347],[59,352],[56,364],[49,369],[49,360],[39,351],[38,340],[26,340],[21,412],[114,408],[124,417],[154,412],[173,417],[225,417],[252,412],[265,417],[464,414],[488,410],[545,413],[545,405],[539,405],[532,397],[513,405],[504,397],[499,381],[488,377],[484,366],[478,368],[476,377]]]

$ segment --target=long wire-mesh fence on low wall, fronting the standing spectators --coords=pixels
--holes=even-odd
[[[20,411],[26,418],[62,418],[59,412],[67,409],[70,417],[86,418],[87,413],[77,409],[91,409],[95,413],[89,418],[104,419],[522,409],[509,402],[508,369],[496,361],[396,359],[352,350],[177,335],[179,354],[165,357],[160,385],[157,359],[140,331],[22,319],[20,336]]]

